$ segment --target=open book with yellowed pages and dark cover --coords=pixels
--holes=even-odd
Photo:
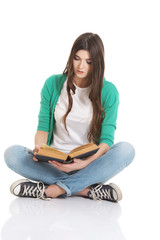
[[[82,145],[80,147],[74,148],[67,155],[53,147],[42,144],[38,153],[36,154],[36,158],[41,162],[58,161],[62,163],[71,163],[73,162],[73,158],[86,158],[98,151],[98,146],[94,143],[88,143]]]

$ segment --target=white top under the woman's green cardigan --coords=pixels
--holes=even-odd
[[[68,154],[72,149],[89,143],[87,134],[90,130],[93,107],[92,102],[89,99],[91,85],[86,88],[80,88],[75,85],[75,94],[73,94],[71,90],[73,106],[66,118],[66,126],[69,132],[68,135],[62,121],[62,118],[68,109],[68,95],[66,87],[67,81],[65,81],[63,85],[55,107],[54,137],[51,146]]]

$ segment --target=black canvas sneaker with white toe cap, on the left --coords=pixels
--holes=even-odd
[[[21,179],[14,182],[10,187],[10,192],[17,197],[31,197],[47,200],[44,192],[45,185],[42,182],[31,182],[28,179]]]

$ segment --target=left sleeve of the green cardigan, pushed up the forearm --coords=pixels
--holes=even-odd
[[[51,87],[52,82],[51,78],[48,78],[41,90],[41,102],[40,102],[40,111],[38,115],[38,127],[37,130],[49,132],[50,118],[51,118]]]

